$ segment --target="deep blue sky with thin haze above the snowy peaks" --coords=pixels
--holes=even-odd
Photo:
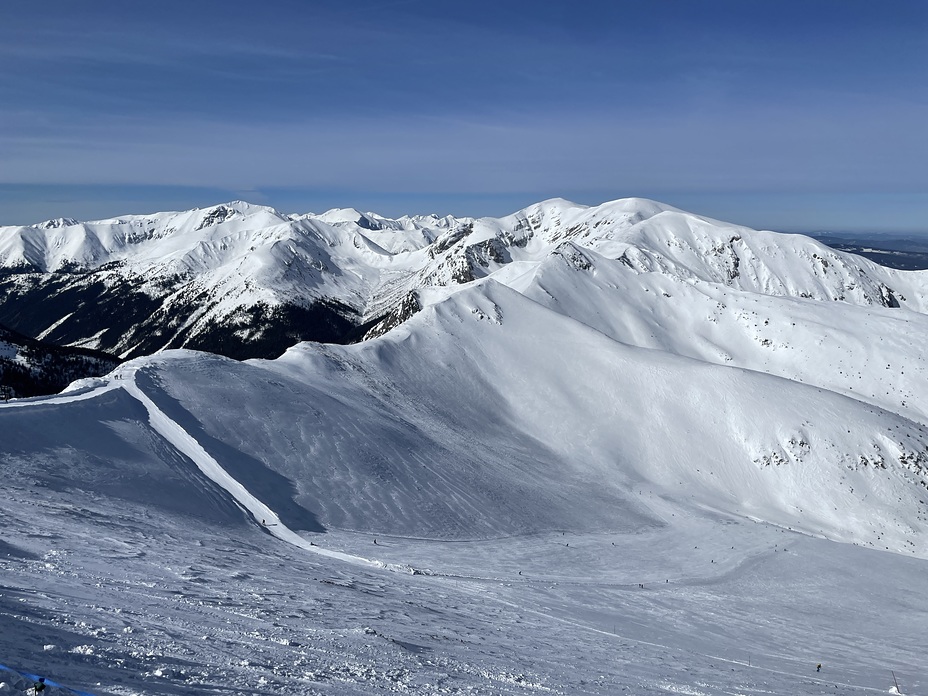
[[[928,232],[928,2],[12,0],[0,224],[655,198]]]

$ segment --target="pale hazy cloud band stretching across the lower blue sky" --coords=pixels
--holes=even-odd
[[[849,104],[845,106],[850,106]],[[928,187],[928,107],[727,107],[665,114],[83,122],[0,135],[6,183],[364,186],[524,191],[558,185],[678,190]],[[838,118],[838,116],[841,118]],[[923,120],[924,119],[924,120]],[[887,129],[887,124],[892,128]]]

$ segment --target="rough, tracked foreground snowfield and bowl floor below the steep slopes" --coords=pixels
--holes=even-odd
[[[313,537],[434,573],[409,575],[7,490],[4,659],[99,694],[864,694],[891,670],[924,693],[924,561],[710,512],[625,534]]]

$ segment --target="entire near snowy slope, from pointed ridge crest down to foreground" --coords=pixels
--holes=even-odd
[[[928,683],[921,423],[493,281],[423,304],[0,407],[5,664],[101,694]]]

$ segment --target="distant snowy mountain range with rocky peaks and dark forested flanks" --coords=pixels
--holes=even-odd
[[[476,220],[283,215],[239,201],[0,228],[0,322],[123,357],[180,347],[276,357],[299,340],[376,335],[407,316],[424,287],[492,276],[525,292],[559,259],[581,273],[594,256],[621,264],[614,273],[632,285],[664,277],[698,289],[925,307],[924,282],[905,273],[641,199],[593,208],[555,199]]]

